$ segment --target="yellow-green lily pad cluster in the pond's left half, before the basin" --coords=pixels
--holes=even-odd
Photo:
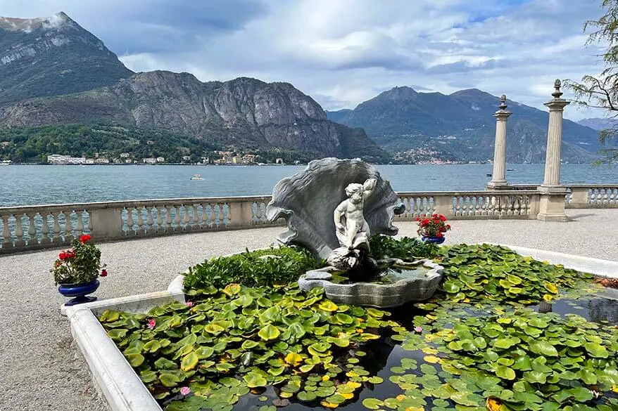
[[[359,358],[365,342],[397,326],[386,315],[338,306],[322,289],[231,284],[201,289],[192,304],[148,315],[106,311],[100,320],[155,398],[169,401],[190,389],[193,395],[169,401],[166,410],[229,411],[266,386],[283,401],[275,405],[291,398],[334,408],[362,383],[381,382]]]

